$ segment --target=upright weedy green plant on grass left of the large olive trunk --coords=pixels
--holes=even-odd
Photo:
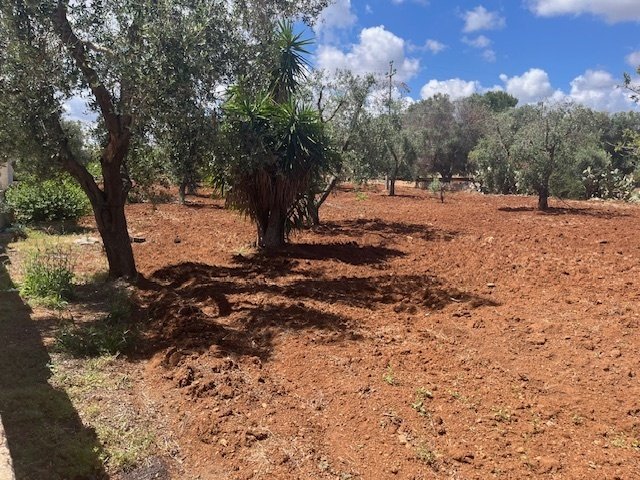
[[[26,259],[20,293],[51,307],[60,307],[73,293],[73,260],[62,246],[36,249]]]

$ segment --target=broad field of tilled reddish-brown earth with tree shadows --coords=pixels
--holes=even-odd
[[[138,393],[175,478],[640,478],[640,208],[345,189],[257,254],[133,205]]]

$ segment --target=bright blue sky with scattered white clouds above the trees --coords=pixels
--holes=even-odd
[[[417,100],[503,89],[637,109],[618,85],[640,65],[640,0],[336,0],[314,27],[314,64],[384,72]]]

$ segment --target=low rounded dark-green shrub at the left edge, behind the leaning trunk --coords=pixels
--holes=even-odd
[[[24,180],[5,192],[7,207],[19,223],[76,221],[89,212],[89,200],[71,179]]]

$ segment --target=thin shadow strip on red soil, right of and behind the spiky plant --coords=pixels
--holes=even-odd
[[[366,233],[378,233],[389,236],[413,236],[426,241],[450,241],[458,232],[441,230],[418,223],[387,222],[379,218],[343,220],[325,222],[314,228],[318,233],[326,235],[347,235],[361,237]]]

